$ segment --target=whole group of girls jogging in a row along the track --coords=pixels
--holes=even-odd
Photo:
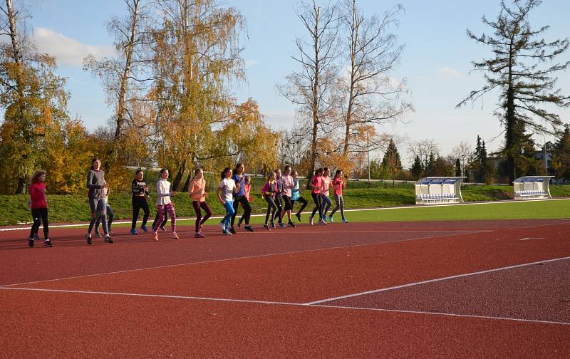
[[[88,199],[91,210],[91,220],[88,232],[85,236],[88,244],[93,244],[93,239],[91,237],[93,227],[95,227],[95,237],[101,237],[98,230],[99,224],[103,227],[105,243],[113,243],[113,239],[110,236],[112,233],[111,225],[113,224],[114,218],[113,209],[111,209],[108,203],[109,186],[108,183],[105,182],[105,172],[100,169],[100,166],[101,161],[98,158],[94,158],[91,161],[91,168],[87,173],[87,187],[89,189]],[[149,231],[146,224],[150,215],[150,209],[147,202],[147,198],[150,199],[150,196],[148,186],[144,180],[144,172],[142,172],[142,170],[138,170],[135,172],[135,175],[136,177],[131,184],[131,192],[133,194],[133,219],[130,229],[130,233],[134,235],[138,234],[136,223],[140,209],[144,212],[142,225],[140,226],[142,231]],[[173,239],[179,239],[179,236],[176,233],[176,211],[171,199],[176,192],[170,190],[168,175],[169,173],[167,169],[163,168],[160,170],[160,180],[158,180],[156,185],[157,216],[151,226],[152,238],[155,239],[155,241],[158,241],[158,229],[166,231],[165,224],[168,216],[170,216],[170,236]],[[291,171],[290,166],[285,167],[282,175],[281,170],[279,169],[269,173],[267,182],[261,189],[261,194],[263,194],[263,197],[267,202],[264,229],[271,230],[272,228],[276,228],[275,219],[278,219],[277,223],[281,228],[295,227],[295,223],[291,217],[295,202],[301,203],[299,211],[295,213],[296,218],[299,222],[301,221],[301,212],[303,212],[305,207],[308,205],[308,202],[301,196],[301,186],[297,179],[297,175],[296,171]],[[313,218],[316,212],[318,212],[319,216],[318,224],[333,222],[333,214],[338,209],[341,211],[342,222],[348,222],[346,217],[344,217],[342,192],[345,184],[343,183],[342,175],[343,172],[341,170],[337,170],[335,177],[331,180],[330,170],[328,170],[328,167],[325,167],[316,170],[314,176],[311,177],[307,187],[311,189],[311,197],[313,197],[315,207],[311,213],[311,217],[309,218],[309,224],[313,224]],[[336,207],[327,217],[326,214],[332,204],[331,199],[328,198],[329,188],[331,186],[334,189]],[[219,202],[224,206],[226,211],[224,218],[219,222],[222,234],[236,234],[234,224],[239,204],[242,204],[244,214],[239,218],[237,227],[241,228],[242,224],[245,223],[244,229],[246,231],[254,231],[254,229],[249,225],[249,220],[252,214],[250,202],[253,200],[249,195],[250,189],[251,178],[245,175],[245,167],[241,163],[237,164],[233,171],[229,167],[222,171],[221,180],[216,187],[216,194]],[[35,241],[39,239],[38,229],[40,224],[43,222],[43,244],[44,246],[53,246],[52,242],[48,238],[48,206],[46,201],[45,171],[34,172],[31,177],[29,192],[30,201],[28,202],[28,206],[32,212],[33,225],[28,238],[28,245],[33,247]],[[212,209],[210,209],[206,202],[208,194],[206,192],[204,172],[201,168],[195,170],[194,177],[190,182],[189,194],[192,199],[192,207],[194,207],[196,212],[194,236],[195,238],[204,238],[205,235],[202,232],[202,226],[204,225],[204,222],[212,216]],[[204,211],[203,217],[202,210]],[[287,219],[287,224],[284,224],[285,217]],[[270,218],[271,222],[268,224]]]

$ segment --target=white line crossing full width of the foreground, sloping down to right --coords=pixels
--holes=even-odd
[[[95,294],[106,296],[130,296],[130,297],[145,297],[145,298],[166,298],[166,299],[186,299],[195,301],[214,301],[214,302],[230,302],[230,303],[250,303],[250,304],[264,304],[274,306],[296,306],[304,308],[335,308],[343,310],[357,310],[357,311],[377,311],[385,313],[404,313],[404,314],[420,314],[427,316],[449,316],[459,318],[477,318],[477,319],[491,319],[499,321],[517,321],[524,323],[541,323],[541,324],[558,324],[569,326],[570,323],[558,321],[540,321],[535,319],[522,319],[522,318],[508,318],[508,317],[494,317],[494,316],[476,316],[470,314],[455,314],[455,313],[434,313],[426,311],[405,311],[400,309],[384,309],[384,308],[361,308],[361,307],[346,307],[346,306],[326,306],[326,305],[308,305],[303,303],[288,303],[279,301],[254,301],[250,299],[232,299],[232,298],[209,298],[209,297],[196,297],[196,296],[170,296],[165,294],[144,294],[144,293],[121,293],[121,292],[106,292],[106,291],[73,291],[66,289],[43,289],[43,288],[7,288],[0,287],[0,289],[9,291],[39,291],[48,293],[73,293],[73,294]]]

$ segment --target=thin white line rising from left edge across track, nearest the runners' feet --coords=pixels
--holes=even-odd
[[[480,233],[480,232],[479,231],[472,231],[472,232],[467,233],[467,234],[476,234],[476,233]],[[419,241],[419,240],[423,240],[423,239],[438,239],[438,238],[445,238],[445,237],[450,237],[450,236],[459,236],[462,234],[465,234],[465,233],[443,234],[441,236],[427,236],[427,237],[410,238],[410,239],[402,239],[402,240],[395,240],[395,241],[379,241],[379,242],[374,242],[374,243],[354,244],[352,246],[333,246],[333,247],[318,248],[318,249],[307,249],[304,251],[287,251],[287,252],[281,252],[281,253],[258,254],[255,256],[241,256],[241,257],[234,257],[234,258],[215,259],[212,261],[196,261],[196,262],[182,263],[182,264],[169,264],[167,266],[154,266],[154,267],[138,268],[138,269],[126,269],[125,271],[112,271],[112,272],[97,273],[97,274],[86,274],[83,276],[69,276],[69,277],[65,277],[65,278],[46,279],[43,281],[30,281],[30,282],[24,282],[24,283],[3,284],[3,285],[0,285],[0,288],[8,288],[11,286],[24,286],[27,284],[36,284],[36,283],[48,283],[48,282],[52,282],[52,281],[64,281],[66,279],[88,278],[88,277],[92,277],[92,276],[105,276],[107,274],[120,274],[120,273],[132,272],[132,271],[148,271],[148,270],[152,270],[152,269],[164,269],[164,268],[172,268],[172,267],[176,267],[176,266],[192,266],[195,264],[209,264],[209,263],[217,263],[217,262],[222,262],[222,261],[237,261],[237,260],[241,260],[241,259],[256,259],[256,258],[264,258],[264,257],[270,257],[270,256],[304,254],[304,253],[311,253],[311,252],[316,252],[316,251],[328,251],[328,250],[332,250],[332,249],[350,249],[350,248],[358,248],[361,246],[376,246],[376,245],[381,245],[381,244],[390,244],[390,243],[399,243],[399,242],[408,242],[408,241]]]

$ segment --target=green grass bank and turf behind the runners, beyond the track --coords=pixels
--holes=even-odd
[[[259,194],[257,183],[252,189],[254,202],[252,207],[256,213],[264,213],[266,202]],[[371,207],[397,207],[415,203],[415,194],[412,187],[387,188],[358,188],[346,189],[344,199],[347,209]],[[570,197],[570,186],[551,186],[553,197]],[[215,214],[223,214],[222,205],[209,191],[210,207]],[[463,199],[473,201],[497,201],[512,198],[512,186],[465,186],[462,188]],[[303,193],[309,200],[307,209],[311,209],[311,196],[308,191]],[[152,195],[152,199],[155,197]],[[109,202],[115,212],[115,220],[130,219],[132,216],[131,197],[128,193],[111,194]],[[2,195],[0,196],[0,225],[11,225],[29,222],[31,214],[27,207],[28,196]],[[194,209],[187,194],[178,193],[174,198],[178,217],[193,217]],[[155,202],[150,204],[150,222],[155,216]],[[85,194],[51,195],[48,194],[49,216],[51,223],[86,222],[90,219],[89,205]],[[296,209],[298,204],[296,204]],[[496,206],[482,205],[481,210],[473,206],[450,207],[410,207],[410,209],[395,209],[390,211],[349,212],[351,221],[416,221],[436,219],[515,219],[515,218],[568,218],[570,217],[570,201],[552,202],[519,202],[504,203]],[[242,213],[240,207],[239,212]],[[306,216],[304,216],[304,220]],[[142,218],[142,211],[139,219]],[[257,222],[258,219],[255,219]]]

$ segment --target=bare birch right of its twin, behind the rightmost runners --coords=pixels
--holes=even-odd
[[[398,26],[398,5],[383,16],[364,16],[356,0],[344,0],[341,24],[347,40],[347,74],[341,81],[341,113],[344,134],[341,142],[345,155],[367,150],[369,141],[359,134],[359,128],[400,120],[413,110],[410,103],[400,98],[405,93],[405,81],[393,83],[390,73],[400,61],[403,45],[390,33]],[[366,143],[364,143],[366,142]],[[384,144],[383,144],[384,145]]]

